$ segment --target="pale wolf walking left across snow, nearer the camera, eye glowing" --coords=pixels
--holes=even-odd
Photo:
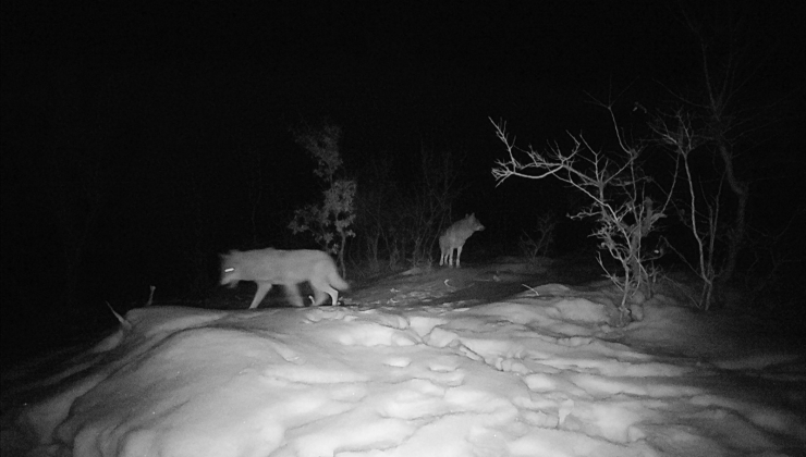
[[[339,305],[339,291],[350,285],[339,275],[335,262],[320,250],[280,250],[273,248],[221,255],[221,285],[234,287],[239,281],[254,281],[257,293],[249,309],[257,308],[274,284],[285,286],[292,305],[304,306],[297,284],[309,282],[316,299],[321,305],[330,295],[333,306]],[[335,287],[335,288],[333,288]],[[326,295],[327,294],[327,295]]]

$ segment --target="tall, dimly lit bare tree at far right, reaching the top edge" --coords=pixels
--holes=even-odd
[[[753,33],[754,12],[741,11],[740,5],[712,8],[718,10],[710,15],[682,10],[682,25],[697,49],[698,78],[687,91],[672,94],[681,103],[674,129],[695,140],[681,146],[689,149],[687,153],[709,156],[715,165],[718,185],[707,190],[706,198],[723,217],[722,225],[712,228],[715,237],[724,242],[723,260],[716,267],[719,283],[725,284],[735,275],[749,223],[750,185],[740,158],[778,121],[776,113],[786,96],[764,97],[755,86],[769,84],[764,82],[764,69],[772,46],[759,44],[761,37]]]

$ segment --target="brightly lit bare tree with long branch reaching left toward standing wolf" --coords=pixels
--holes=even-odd
[[[582,135],[572,134],[569,134],[572,146],[567,152],[563,152],[557,143],[546,152],[530,146],[521,149],[514,139],[510,139],[505,123],[490,120],[509,155],[508,159],[496,162],[492,175],[498,184],[512,176],[528,180],[554,176],[591,201],[590,206],[570,218],[596,219],[594,236],[599,238],[599,246],[621,264],[621,275],[608,273],[608,276],[622,291],[619,309],[624,323],[630,317],[640,319],[638,308],[633,306],[639,306],[642,297],[651,294],[652,271],[648,265],[657,256],[643,243],[664,217],[669,199],[658,205],[646,192],[649,180],[638,162],[644,148],[628,145],[619,128],[612,106],[601,106],[610,113],[618,139],[619,149],[611,155],[594,149]],[[599,262],[604,269],[601,257]],[[639,292],[640,296],[637,295]]]

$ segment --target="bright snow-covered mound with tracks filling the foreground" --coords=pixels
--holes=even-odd
[[[3,394],[1,450],[804,454],[802,348],[742,344],[663,296],[625,329],[608,324],[611,310],[606,292],[559,284],[473,306],[135,309],[131,329],[49,359],[57,374],[35,363],[7,374],[17,387]]]

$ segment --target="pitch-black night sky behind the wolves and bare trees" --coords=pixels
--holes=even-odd
[[[303,121],[341,125],[354,169],[423,144],[463,151],[471,186],[454,211],[475,211],[494,238],[548,203],[545,184],[493,187],[503,149],[488,116],[508,120],[524,145],[566,129],[603,138],[607,116],[585,92],[628,87],[628,124],[640,121],[635,101],[669,101],[661,84],[698,77],[680,2],[195,3],[2,1],[4,321],[59,300],[47,279],[63,269],[60,218],[64,208],[86,215],[87,201],[101,208],[82,280],[97,312],[105,299],[144,298],[147,284],[186,283],[194,231],[211,259],[248,247],[254,173],[264,180],[258,243],[294,243],[289,214],[318,192],[289,134]],[[695,14],[728,11],[701,3]],[[747,10],[747,49],[764,55],[764,91],[750,94],[795,94],[802,104],[804,17],[786,4]],[[803,170],[794,111],[781,111],[768,149],[784,152],[768,169]]]

